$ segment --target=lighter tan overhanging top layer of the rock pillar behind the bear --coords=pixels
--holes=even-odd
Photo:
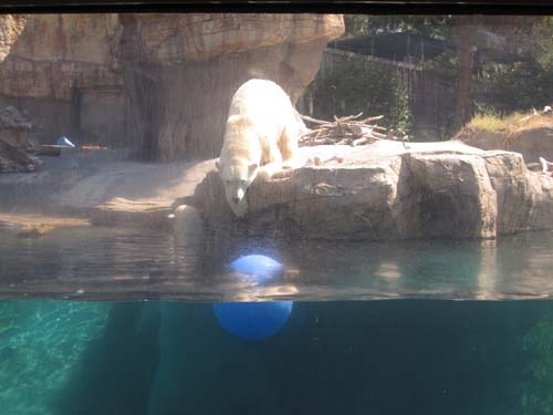
[[[280,43],[331,40],[344,32],[337,14],[131,13],[119,54],[125,60],[161,64],[204,61]]]

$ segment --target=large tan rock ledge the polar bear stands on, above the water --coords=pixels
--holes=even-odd
[[[254,183],[249,212],[236,219],[216,172],[195,195],[211,231],[310,239],[493,238],[553,229],[553,178],[522,156],[460,142],[380,141],[363,147],[304,147],[306,157],[343,163],[306,166]]]

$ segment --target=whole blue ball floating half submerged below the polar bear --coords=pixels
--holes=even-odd
[[[231,272],[249,280],[268,282],[282,276],[284,267],[279,261],[249,255],[232,261]],[[281,330],[292,313],[293,301],[227,302],[213,304],[219,324],[230,334],[243,340],[262,340]]]

